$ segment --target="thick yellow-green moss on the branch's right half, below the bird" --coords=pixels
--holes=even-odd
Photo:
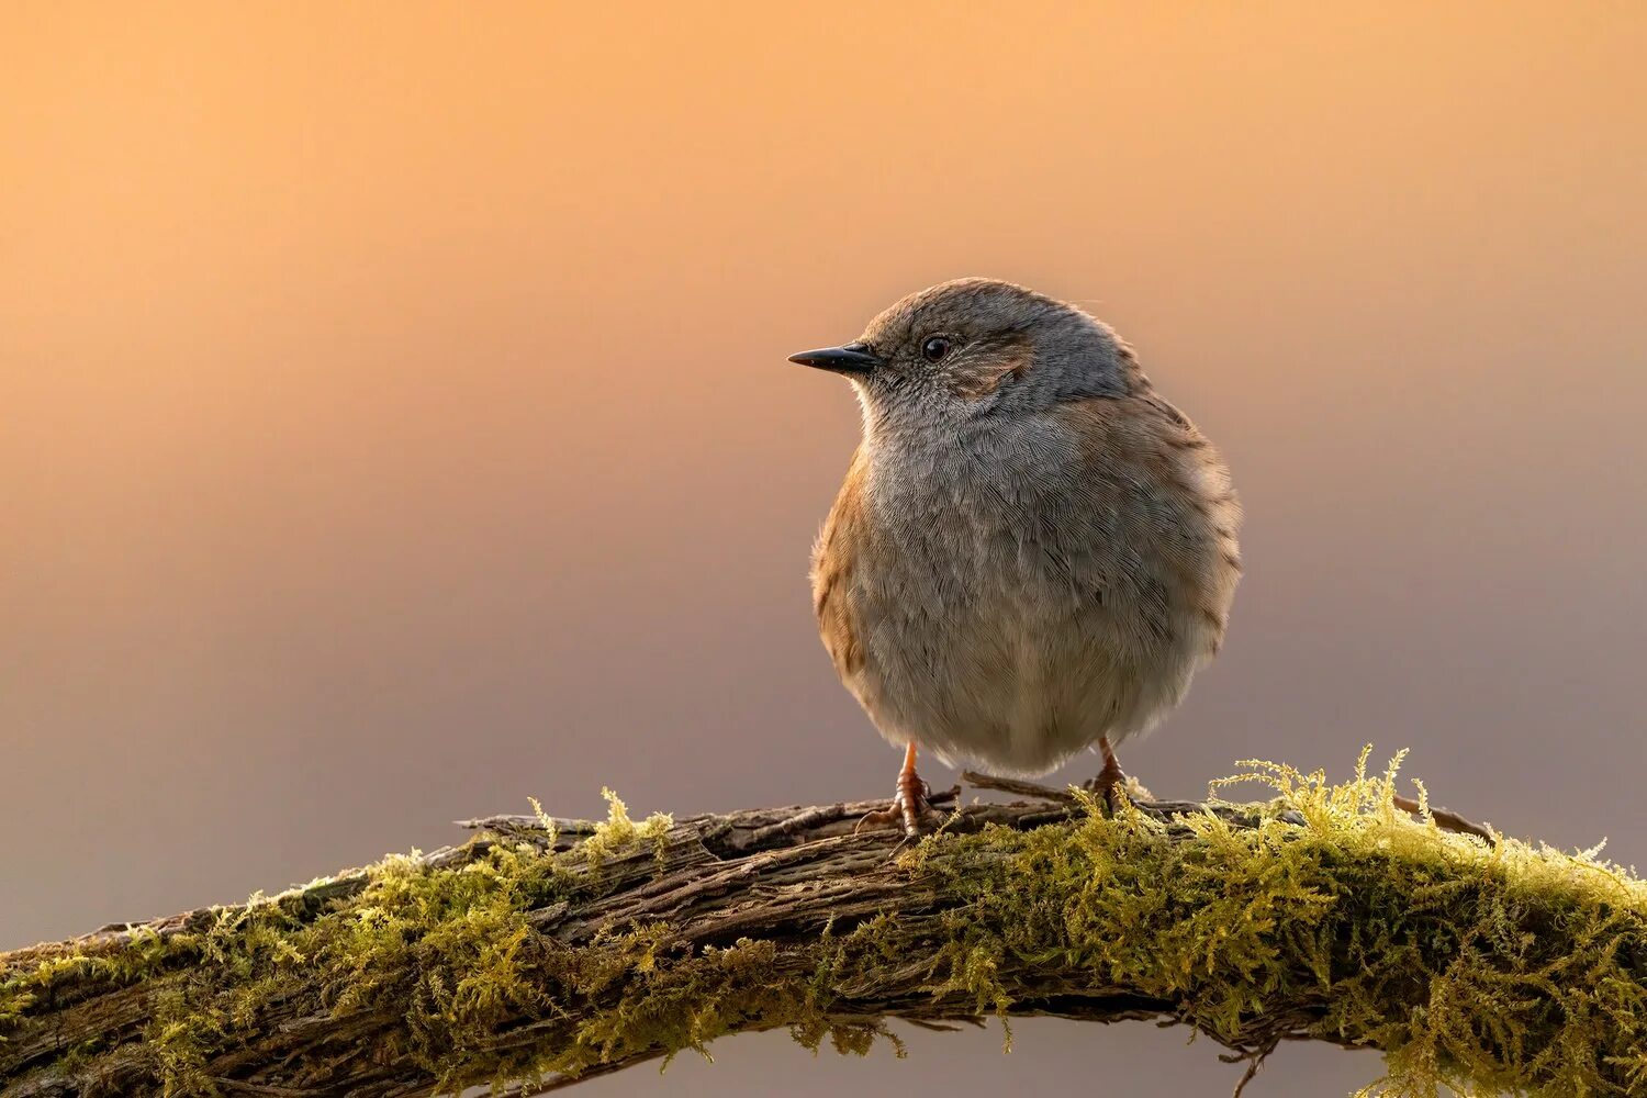
[[[1415,823],[1392,805],[1393,769],[1329,785],[1253,765],[1280,793],[1253,830],[1201,815],[1181,821],[1192,841],[1169,841],[1158,821],[1110,823],[1089,803],[1074,828],[955,843],[1000,858],[924,844],[970,900],[940,951],[949,986],[1000,1007],[1011,989],[991,971],[1008,958],[1090,971],[1258,1047],[1268,1004],[1314,1003],[1313,1035],[1390,1050],[1388,1095],[1624,1093],[1621,1078],[1647,1073],[1640,881],[1593,853]],[[1390,1009],[1405,1001],[1421,1006]]]

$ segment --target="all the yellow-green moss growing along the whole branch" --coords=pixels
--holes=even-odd
[[[557,900],[598,896],[611,859],[647,843],[665,854],[670,820],[637,825],[608,793],[606,823],[565,854],[496,843],[443,869],[397,856],[349,896],[316,900],[318,882],[166,940],[13,963],[0,971],[0,1040],[82,981],[145,981],[142,1047],[161,1093],[214,1093],[216,1050],[311,1014],[359,1019],[372,1055],[458,1088],[707,1055],[720,1035],[774,1026],[861,1054],[888,1034],[847,1007],[875,1001],[889,966],[919,963],[931,996],[978,1014],[1005,1017],[1038,973],[1057,971],[1171,1003],[1234,1047],[1263,1050],[1296,1029],[1380,1047],[1387,1077],[1365,1093],[1392,1098],[1647,1086],[1647,884],[1596,851],[1415,821],[1392,803],[1393,765],[1369,777],[1365,754],[1344,784],[1248,765],[1212,792],[1265,784],[1255,826],[1211,813],[1166,825],[1131,808],[1112,820],[1089,800],[1066,825],[935,835],[898,868],[955,900],[940,912],[692,955],[667,924],[575,947],[532,924]],[[110,1050],[72,1055],[92,1080]]]

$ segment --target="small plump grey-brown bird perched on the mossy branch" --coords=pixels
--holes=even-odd
[[[1240,502],[1212,443],[1077,305],[995,278],[912,293],[791,356],[845,377],[863,431],[812,550],[819,634],[904,747],[860,828],[917,836],[917,749],[1036,777],[1164,718],[1224,644]]]

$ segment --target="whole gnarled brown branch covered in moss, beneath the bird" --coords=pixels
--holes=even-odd
[[[1365,756],[1364,756],[1365,759]],[[473,821],[458,848],[0,955],[0,1093],[525,1095],[787,1027],[1183,1024],[1252,1068],[1382,1049],[1390,1095],[1647,1093],[1647,884],[1252,764],[1273,798],[1036,787],[939,835],[871,803]],[[1472,826],[1472,825],[1471,825]],[[1250,1073],[1250,1072],[1248,1072]]]

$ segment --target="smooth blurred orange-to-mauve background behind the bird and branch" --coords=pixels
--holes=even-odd
[[[1637,5],[591,7],[0,5],[0,948],[527,795],[889,790],[805,584],[856,410],[784,356],[967,273],[1112,321],[1247,502],[1225,654],[1130,770],[1410,746],[1647,859]],[[1239,1073],[907,1037],[580,1093]]]

